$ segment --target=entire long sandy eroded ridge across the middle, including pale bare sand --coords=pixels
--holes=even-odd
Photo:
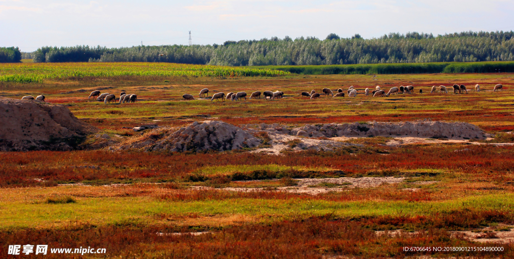
[[[264,133],[264,134],[263,134]],[[259,136],[259,138],[255,137]],[[257,147],[253,152],[280,154],[283,150],[334,151],[343,146],[357,145],[333,137],[447,137],[450,139],[484,139],[480,128],[465,122],[413,121],[370,122],[369,124],[306,124],[287,128],[280,124],[242,124],[241,127],[223,121],[194,122],[178,131],[158,128],[129,143],[110,147],[111,150],[141,149],[145,151],[229,151]],[[266,140],[267,139],[267,140]]]

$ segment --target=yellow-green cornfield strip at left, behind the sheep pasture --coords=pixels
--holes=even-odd
[[[273,77],[290,72],[228,66],[174,63],[25,63],[0,65],[0,82],[31,83],[44,79],[117,76]]]

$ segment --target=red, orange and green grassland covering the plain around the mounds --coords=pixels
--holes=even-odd
[[[27,66],[23,69],[32,66],[20,65]],[[66,66],[38,65],[48,69]],[[514,130],[512,76],[48,77],[35,83],[0,82],[0,95],[44,94],[48,102],[66,105],[102,133],[123,138],[140,136],[123,128],[140,123],[180,126],[214,119],[233,124],[302,125],[431,118],[466,121],[497,134],[496,142],[512,142],[508,133]],[[453,83],[468,88],[478,83],[485,91],[429,93],[432,85]],[[492,92],[498,83],[505,91]],[[299,96],[311,89],[347,89],[350,85],[357,89],[414,85],[416,94],[372,98],[359,93],[356,98],[319,100]],[[197,96],[203,88],[209,88],[210,95],[216,91],[282,90],[285,98],[180,100],[185,93]],[[425,94],[417,94],[419,88]],[[95,89],[134,93],[138,102],[105,105],[88,101]],[[87,141],[94,146],[99,140],[90,136]],[[514,225],[513,146],[444,141],[387,146],[383,137],[353,141],[363,146],[281,156],[91,149],[0,153],[0,254],[7,253],[8,244],[49,244],[105,247],[109,258],[513,256],[511,243],[484,244],[454,232],[486,235],[489,229],[508,230]],[[468,151],[455,153],[463,149]],[[321,194],[276,190],[295,188],[279,179],[370,176],[405,180],[371,188],[345,186],[342,191]],[[242,179],[247,181],[238,181]],[[224,189],[255,187],[260,189]],[[186,234],[176,234],[180,232]],[[500,246],[504,251],[407,252],[402,250],[405,246]]]

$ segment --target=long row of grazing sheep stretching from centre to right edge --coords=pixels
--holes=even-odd
[[[431,94],[435,93],[436,90],[437,90],[437,87],[434,85],[434,86],[432,86],[430,93]],[[503,90],[503,85],[501,85],[501,84],[495,85],[493,91],[497,91],[497,90]],[[348,88],[346,93],[347,93],[348,97],[356,97],[357,91],[359,91],[359,90],[355,89],[354,86],[352,85]],[[475,85],[475,91],[480,92],[479,84]],[[322,96],[322,95],[323,96],[331,95],[332,97],[344,97],[343,89],[341,89],[341,88],[337,89],[336,94],[334,94],[334,92],[335,92],[335,90],[333,91],[329,88],[323,88],[321,90],[321,93],[316,93],[315,90],[312,90],[312,91],[310,91],[310,93],[302,92],[301,96],[309,97],[310,99],[320,98],[320,96]],[[462,94],[464,92],[466,94],[468,93],[468,90],[466,89],[465,85],[457,85],[457,84],[453,85],[453,93],[454,94],[457,94],[457,93]],[[446,88],[446,86],[444,86],[444,85],[439,86],[439,93],[448,94],[448,89]],[[376,86],[374,90],[370,90],[370,88],[364,89],[365,96],[372,95],[373,97],[386,97],[386,96],[390,96],[392,94],[395,94],[395,95],[397,95],[397,94],[414,94],[414,86],[412,86],[412,85],[400,86],[400,87],[395,86],[395,87],[392,87],[391,89],[389,89],[387,94],[386,94],[386,91],[380,89],[380,86]],[[423,94],[423,89],[419,89],[419,94]],[[273,100],[276,98],[278,98],[278,99],[282,98],[282,96],[284,95],[284,92],[283,91],[275,91],[275,92],[264,91],[262,93],[262,95],[264,96],[264,99],[268,100],[268,97],[269,97],[269,100]],[[198,98],[202,98],[202,97],[206,97],[206,96],[209,97],[209,89],[207,89],[207,88],[202,89],[200,91]],[[220,92],[220,93],[216,93],[216,94],[212,95],[211,101],[218,100],[218,99],[221,99],[222,101],[225,99],[235,101],[235,100],[240,100],[242,98],[245,98],[245,100],[246,100],[246,96],[247,96],[246,92],[238,92],[238,93],[230,92],[225,97],[225,93]],[[252,98],[260,99],[261,92],[254,91],[250,95],[249,99],[252,99]],[[190,95],[190,94],[183,95],[182,99],[186,100],[186,101],[195,100],[194,96]]]

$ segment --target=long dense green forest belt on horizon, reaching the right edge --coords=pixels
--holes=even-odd
[[[222,45],[42,47],[34,62],[173,62],[227,66],[514,61],[514,32],[389,33],[363,39],[315,37],[227,41]]]

